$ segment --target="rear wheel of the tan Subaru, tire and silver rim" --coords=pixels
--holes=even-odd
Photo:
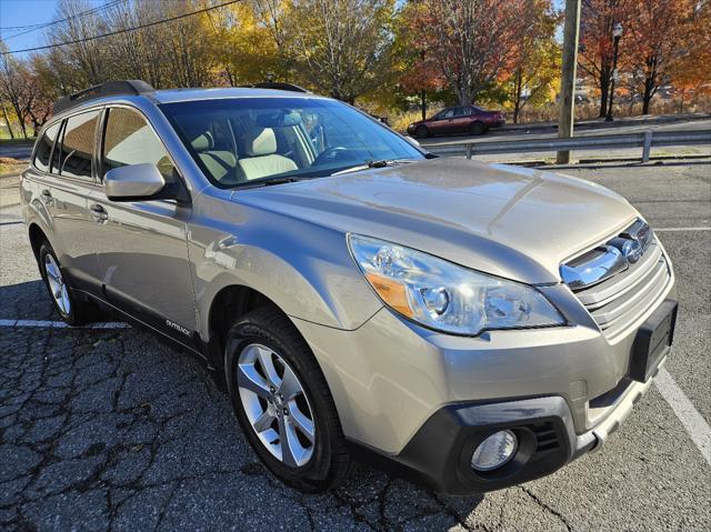
[[[87,323],[93,307],[74,297],[59,259],[47,240],[40,244],[38,262],[44,287],[59,317],[72,327]]]

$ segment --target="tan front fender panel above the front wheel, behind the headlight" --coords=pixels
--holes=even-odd
[[[212,301],[230,285],[257,290],[292,318],[344,330],[358,329],[382,307],[353,263],[343,233],[239,209],[226,224],[216,223],[214,211],[209,225],[198,215],[189,231],[203,339]]]

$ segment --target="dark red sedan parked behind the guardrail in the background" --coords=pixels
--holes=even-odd
[[[449,133],[483,134],[504,122],[503,111],[487,111],[477,106],[448,107],[432,118],[408,126],[408,134],[418,139]]]

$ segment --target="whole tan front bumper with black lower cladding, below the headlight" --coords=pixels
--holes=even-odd
[[[569,325],[470,338],[427,330],[388,309],[353,331],[293,321],[354,446],[432,488],[488,491],[548,474],[600,448],[651,382],[630,379],[638,331],[664,301],[677,300],[671,272],[659,298],[610,338],[568,287],[539,290]],[[469,466],[474,444],[509,422],[521,426],[531,446],[538,449],[531,434],[539,430],[552,431],[558,446],[515,474],[482,480]],[[432,444],[428,434],[440,440]]]

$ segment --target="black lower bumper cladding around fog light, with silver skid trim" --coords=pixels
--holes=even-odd
[[[664,358],[654,375],[664,364]],[[587,452],[598,451],[629,416],[652,384],[634,382],[612,412],[594,429],[575,433],[570,408],[561,397],[520,399],[495,403],[449,404],[420,428],[398,455],[385,455],[361,444],[353,450],[365,460],[399,476],[448,494],[499,490],[553,473]],[[499,470],[472,470],[477,446],[500,430],[519,440],[515,456]]]

